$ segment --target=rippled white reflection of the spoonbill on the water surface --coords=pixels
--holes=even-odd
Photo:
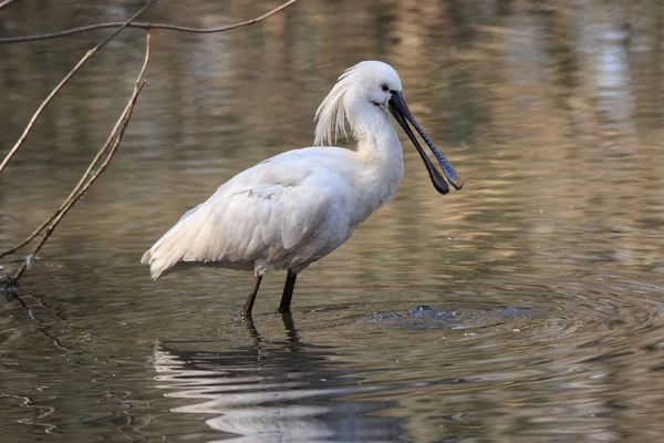
[[[166,394],[172,398],[205,400],[173,411],[212,414],[210,427],[241,442],[402,440],[402,419],[375,414],[391,402],[347,400],[381,388],[359,383],[361,371],[340,363],[334,348],[303,343],[290,313],[283,324],[283,340],[267,340],[247,320],[252,344],[234,349],[215,349],[224,346],[219,342],[158,343],[159,388],[172,390]]]

